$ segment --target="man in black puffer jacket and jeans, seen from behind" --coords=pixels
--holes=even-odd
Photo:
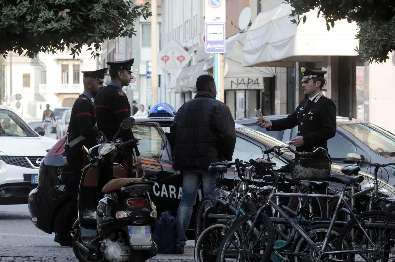
[[[175,253],[184,253],[185,232],[191,220],[200,183],[204,196],[217,198],[217,177],[208,173],[210,163],[232,160],[236,143],[231,111],[215,99],[214,78],[201,75],[196,80],[195,98],[184,103],[170,127],[173,168],[182,171],[182,198],[177,211]]]

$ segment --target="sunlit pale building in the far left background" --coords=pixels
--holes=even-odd
[[[84,90],[81,71],[96,70],[87,47],[73,59],[70,50],[40,53],[35,59],[9,54],[4,62],[4,104],[24,119],[40,119],[45,105],[71,107]],[[16,101],[16,94],[22,99]]]

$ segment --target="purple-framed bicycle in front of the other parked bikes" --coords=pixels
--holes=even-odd
[[[395,163],[392,163],[391,165],[394,165],[394,164]],[[278,176],[275,173],[273,173],[273,175],[276,176],[276,181],[278,181],[278,179],[279,179]],[[228,254],[228,252],[227,253],[225,252],[225,249],[235,242],[237,243],[236,250],[237,251],[239,251],[239,250],[244,251],[243,247],[246,243],[251,242],[251,241],[249,241],[249,237],[251,237],[251,236],[258,236],[257,237],[258,240],[255,242],[264,243],[264,245],[261,245],[261,248],[264,248],[264,251],[260,251],[260,253],[263,253],[262,258],[261,258],[263,261],[264,261],[264,259],[268,259],[268,257],[270,256],[270,254],[268,254],[269,251],[271,253],[272,250],[275,250],[275,252],[277,251],[278,253],[281,253],[281,250],[283,250],[291,245],[293,236],[291,236],[285,243],[282,243],[281,245],[270,246],[270,245],[272,245],[270,241],[265,241],[265,239],[261,239],[262,232],[259,232],[258,234],[256,233],[256,226],[259,225],[258,220],[264,220],[264,221],[266,220],[267,215],[265,214],[265,212],[270,207],[275,208],[276,211],[278,211],[278,213],[282,216],[282,219],[284,219],[285,222],[287,224],[289,224],[291,226],[291,228],[293,230],[295,230],[307,242],[307,244],[310,246],[310,258],[312,261],[318,262],[318,261],[321,261],[321,258],[324,259],[323,261],[329,261],[330,259],[336,260],[335,259],[336,255],[342,256],[343,260],[346,257],[349,258],[349,256],[351,256],[350,258],[354,259],[355,254],[367,254],[369,252],[382,251],[383,244],[380,242],[377,243],[377,238],[373,239],[373,237],[369,237],[365,228],[369,228],[369,229],[376,228],[376,227],[380,227],[382,225],[382,223],[373,223],[372,222],[371,218],[376,216],[379,218],[386,218],[386,219],[391,220],[392,223],[390,226],[392,229],[395,229],[395,215],[391,214],[389,212],[385,212],[385,211],[370,211],[370,212],[364,212],[364,213],[361,213],[358,215],[354,214],[352,212],[350,205],[347,203],[347,200],[345,199],[344,194],[345,194],[347,186],[354,186],[356,183],[358,183],[358,182],[360,183],[361,181],[363,181],[363,176],[360,176],[360,175],[345,176],[345,175],[340,175],[340,174],[332,174],[332,175],[330,175],[330,178],[334,181],[337,181],[337,182],[343,184],[343,190],[339,195],[276,193],[275,190],[273,189],[268,200],[266,201],[265,205],[263,205],[261,208],[259,208],[256,213],[249,214],[248,216],[244,216],[241,219],[237,220],[237,222],[230,229],[227,230],[225,236],[223,237],[221,246],[218,250],[217,261],[218,262],[223,261],[225,254]],[[302,180],[301,182],[304,182],[304,181],[306,181],[306,180]],[[316,184],[319,182],[306,181],[304,183]],[[318,198],[337,199],[338,201],[337,201],[335,213],[333,214],[333,217],[330,221],[329,228],[328,228],[328,231],[325,235],[324,241],[315,243],[314,240],[312,240],[312,238],[308,235],[308,233],[304,229],[302,229],[302,227],[299,225],[302,220],[301,215],[299,215],[296,219],[291,219],[286,214],[286,212],[280,206],[278,206],[276,204],[276,201],[273,200],[273,197],[276,197],[276,196],[278,196],[278,197],[287,197],[287,196],[288,197],[289,196],[291,196],[291,197],[318,197]],[[338,240],[336,242],[335,248],[333,248],[333,246],[329,245],[329,240],[330,240],[330,236],[332,234],[332,229],[334,228],[334,224],[336,222],[336,216],[340,210],[340,205],[342,203],[349,210],[353,219],[350,220],[343,227],[341,232],[338,232],[339,233]],[[365,221],[361,222],[360,220],[362,220],[362,219],[363,220],[368,219],[369,222],[365,222]],[[252,223],[251,223],[251,220],[252,220]],[[246,239],[242,240],[240,243],[240,241],[237,241],[237,239],[234,240],[232,238],[235,233],[238,234],[240,232],[245,231],[245,229],[243,229],[242,225],[241,225],[243,222],[250,222],[251,226],[247,230]],[[265,224],[265,226],[267,226],[267,225],[268,225],[268,223]],[[273,224],[272,224],[272,226],[273,226]],[[353,244],[350,244],[350,242],[346,240],[346,237],[349,235],[349,233],[351,233],[349,231],[354,229],[354,227],[362,230],[362,235],[365,236],[365,239],[368,240],[368,243],[366,244],[367,248],[351,249],[351,250],[347,249],[347,248],[353,248]],[[272,236],[270,235],[270,233],[274,233],[274,230],[268,229],[267,232],[268,233],[267,233],[266,239],[271,239]],[[238,238],[241,239],[241,237],[238,237]],[[388,245],[384,245],[384,247],[388,247]],[[246,247],[246,248],[248,249],[248,247]],[[346,248],[346,250],[343,250],[344,248]],[[230,252],[229,254],[232,254],[232,252]],[[237,256],[239,256],[238,253],[237,253]],[[376,256],[365,255],[364,257],[369,259],[368,261],[371,262],[371,261],[373,261],[372,259],[377,257],[377,255]]]

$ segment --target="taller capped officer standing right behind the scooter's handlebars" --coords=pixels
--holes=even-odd
[[[132,79],[133,62],[134,58],[124,61],[107,62],[107,65],[110,66],[109,74],[111,82],[97,94],[94,105],[97,127],[104,133],[107,139],[112,139],[119,130],[122,121],[130,117],[130,103],[125,92],[122,91],[122,87],[128,86]],[[140,152],[137,148],[137,140],[134,138],[132,130],[122,130],[120,137],[122,141],[135,140],[128,149],[129,152],[135,149],[137,155],[136,167],[138,167],[141,164]],[[128,168],[131,164],[130,158],[129,161],[118,158],[116,162],[121,162],[119,164],[123,164],[130,176],[132,171],[131,166]]]

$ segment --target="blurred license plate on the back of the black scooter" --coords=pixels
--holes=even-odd
[[[149,225],[135,225],[129,227],[129,241],[133,249],[147,250],[151,248],[151,227]]]

